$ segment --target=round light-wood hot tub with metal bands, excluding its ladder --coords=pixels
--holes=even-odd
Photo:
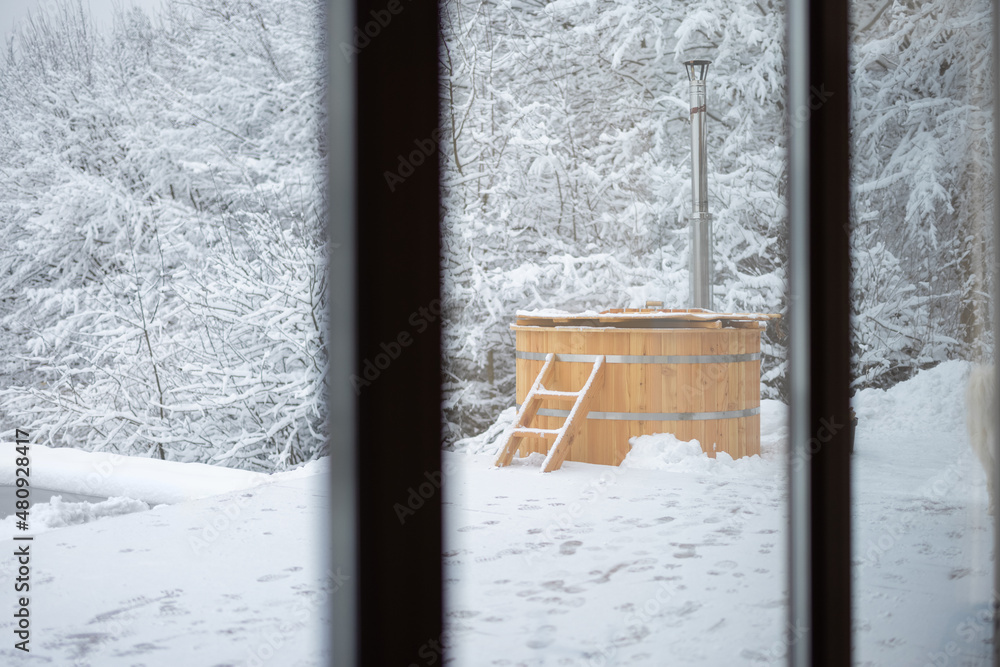
[[[660,314],[661,317],[656,315]],[[668,316],[670,315],[670,316]],[[714,318],[711,316],[715,316]],[[608,311],[584,315],[519,313],[517,404],[524,401],[545,356],[555,367],[546,389],[578,391],[594,360],[605,360],[570,461],[618,465],[629,438],[672,433],[697,440],[709,456],[760,453],[760,336],[775,316],[704,311]],[[557,429],[572,399],[548,401],[532,426]],[[520,456],[545,453],[549,442],[525,439]]]

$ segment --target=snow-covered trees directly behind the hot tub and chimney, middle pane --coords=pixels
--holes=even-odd
[[[783,308],[779,4],[454,0],[442,33],[451,437],[509,405],[516,310],[686,304],[685,60],[714,61],[716,302]],[[778,341],[765,347],[772,395]]]

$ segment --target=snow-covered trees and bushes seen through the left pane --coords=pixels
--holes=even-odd
[[[326,450],[322,7],[31,15],[0,61],[0,418],[275,471]]]

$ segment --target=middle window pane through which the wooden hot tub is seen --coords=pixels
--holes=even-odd
[[[784,21],[767,0],[442,4],[454,664],[785,660],[787,340],[764,318],[786,310]],[[693,305],[693,213],[728,319],[604,312]],[[559,434],[495,468],[549,353],[546,389],[593,376],[581,435],[552,472]]]

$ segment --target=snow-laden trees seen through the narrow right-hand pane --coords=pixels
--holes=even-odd
[[[987,2],[858,12],[852,153],[856,384],[992,348]]]

